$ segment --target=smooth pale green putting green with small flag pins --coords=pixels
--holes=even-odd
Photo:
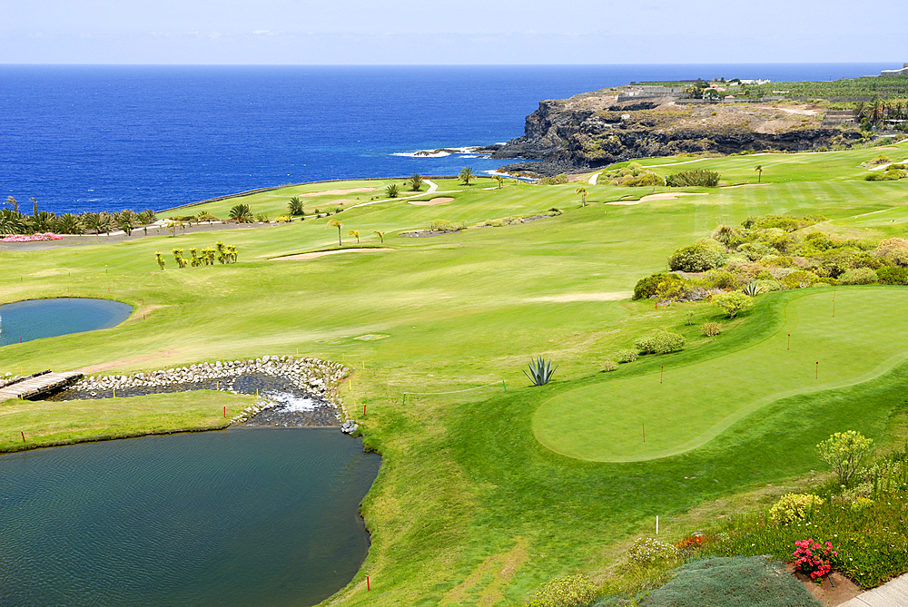
[[[903,288],[805,294],[788,303],[785,326],[755,346],[687,367],[672,367],[666,357],[661,383],[657,372],[565,392],[538,408],[533,432],[553,451],[600,462],[688,451],[779,398],[850,386],[892,368],[908,357],[906,306]]]

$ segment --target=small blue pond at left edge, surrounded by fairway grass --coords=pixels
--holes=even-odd
[[[29,299],[0,306],[0,346],[119,325],[133,307],[110,299]]]

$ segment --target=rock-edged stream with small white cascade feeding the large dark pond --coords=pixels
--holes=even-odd
[[[351,369],[318,358],[264,356],[246,360],[202,362],[132,375],[93,375],[48,397],[86,400],[139,397],[164,392],[220,390],[257,395],[259,400],[230,420],[233,424],[280,427],[346,427],[340,387]]]

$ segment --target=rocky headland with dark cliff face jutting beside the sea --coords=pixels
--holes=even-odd
[[[527,116],[524,136],[491,151],[492,157],[542,161],[512,164],[505,170],[549,176],[677,153],[800,152],[847,144],[858,137],[854,129],[822,128],[822,109],[685,105],[672,100],[582,107],[583,100],[573,101],[539,103],[538,110]]]

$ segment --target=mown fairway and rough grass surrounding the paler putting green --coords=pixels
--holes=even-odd
[[[841,157],[854,169],[877,153],[843,152]],[[781,158],[803,162],[814,156],[823,155]],[[739,171],[753,179],[755,158],[720,160],[730,163],[729,174]],[[898,406],[891,390],[902,382],[898,371],[903,367],[856,387],[776,401],[706,445],[661,460],[570,459],[539,445],[532,433],[532,416],[549,398],[611,379],[597,373],[598,360],[651,328],[686,330],[682,308],[655,310],[647,302],[607,300],[623,297],[640,276],[664,268],[666,255],[677,246],[702,237],[716,223],[765,213],[823,213],[844,223],[836,229],[872,233],[876,227],[849,225],[845,218],[904,204],[903,183],[830,182],[824,165],[815,163],[803,171],[798,174],[805,175],[799,178],[804,181],[584,209],[576,208],[574,184],[508,184],[501,191],[484,191],[480,188],[488,185],[480,182],[455,193],[457,200],[445,206],[389,201],[338,216],[345,240],[348,229],[362,235],[388,231],[386,246],[397,249],[390,253],[267,260],[331,248],[337,232],[325,229],[326,220],[232,231],[224,238],[239,245],[241,262],[213,268],[174,270],[171,261],[161,272],[153,262],[155,250],[179,246],[188,251],[217,238],[204,234],[2,252],[4,301],[56,297],[69,289],[74,296],[126,301],[136,312],[118,328],[5,347],[0,371],[103,363],[126,371],[222,354],[293,354],[296,348],[309,356],[345,357],[358,370],[344,397],[357,407],[368,404],[367,443],[380,449],[385,464],[364,503],[373,532],[370,556],[336,600],[513,604],[552,575],[595,570],[609,546],[655,514],[683,513],[704,500],[819,467],[811,445],[832,431],[855,428],[883,435],[886,419]],[[854,169],[855,176],[858,172]],[[440,188],[462,189],[454,183]],[[593,202],[643,193],[587,189]],[[274,193],[275,208],[287,193]],[[437,218],[475,223],[551,206],[568,212],[433,239],[393,235]],[[267,209],[252,204],[252,210]],[[903,230],[908,216],[898,217],[885,229]],[[110,274],[104,274],[105,265]],[[711,308],[695,309],[695,324],[716,314]],[[734,330],[726,329],[721,351],[695,341],[687,360],[696,363],[765,337],[778,318],[771,309],[757,312]],[[367,333],[389,337],[354,339]],[[558,381],[545,388],[523,387],[519,368],[537,354],[558,360]],[[657,358],[641,359],[621,373],[643,375],[657,364]],[[501,378],[507,393],[491,387],[410,397],[401,405],[403,391],[475,387]],[[807,415],[818,403],[827,415]],[[366,573],[372,581],[368,595]]]

